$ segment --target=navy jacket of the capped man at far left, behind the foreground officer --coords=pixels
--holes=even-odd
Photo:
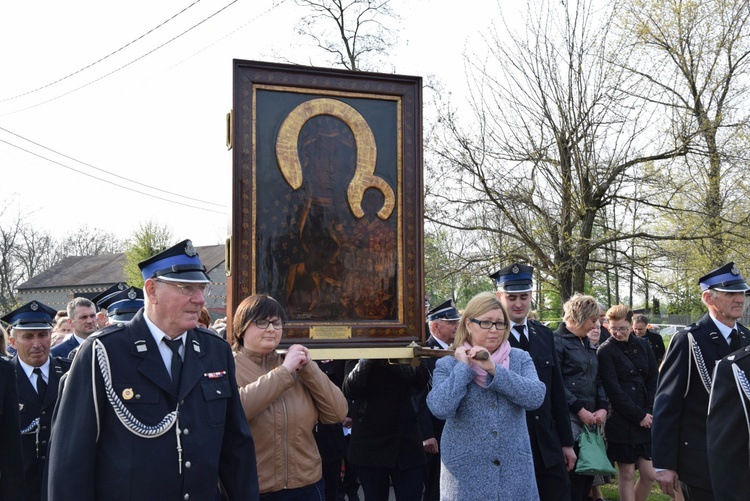
[[[16,367],[16,382],[18,385],[18,409],[21,420],[21,430],[24,430],[39,418],[39,434],[27,433],[21,436],[23,444],[23,469],[26,476],[26,499],[37,500],[42,495],[42,477],[47,462],[47,448],[50,431],[52,429],[52,411],[57,402],[57,388],[60,378],[70,369],[70,360],[60,357],[49,357],[49,375],[47,392],[44,402],[31,385],[29,377],[21,366],[18,355],[11,363]]]

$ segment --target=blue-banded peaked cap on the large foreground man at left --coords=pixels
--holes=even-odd
[[[183,240],[145,261],[138,263],[144,280],[158,278],[167,282],[209,283],[211,279],[206,274],[198,252],[193,242]]]

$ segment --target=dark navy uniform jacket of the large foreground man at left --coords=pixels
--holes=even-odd
[[[105,393],[94,342],[109,356],[113,393],[132,418],[157,425],[179,402],[179,422],[156,438],[135,435]],[[255,446],[240,404],[229,344],[187,333],[179,393],[143,317],[89,336],[76,355],[59,408],[49,462],[49,499],[258,499]],[[98,412],[97,412],[98,407]],[[177,451],[179,425],[182,472]]]

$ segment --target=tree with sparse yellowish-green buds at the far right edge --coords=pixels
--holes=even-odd
[[[619,36],[631,57],[616,62],[632,73],[634,95],[669,119],[663,133],[690,143],[690,153],[654,172],[654,181],[673,193],[662,211],[671,231],[707,235],[688,243],[691,249],[670,248],[673,262],[697,278],[745,255],[750,3],[634,0],[620,7]]]

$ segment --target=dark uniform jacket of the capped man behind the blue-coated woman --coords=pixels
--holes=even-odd
[[[526,426],[531,438],[534,465],[549,468],[565,460],[562,448],[573,447],[573,431],[552,330],[535,320],[527,320],[526,325],[529,355],[534,361],[539,380],[547,389],[542,405],[526,412]],[[508,336],[508,341],[514,348],[521,347],[512,334]]]

